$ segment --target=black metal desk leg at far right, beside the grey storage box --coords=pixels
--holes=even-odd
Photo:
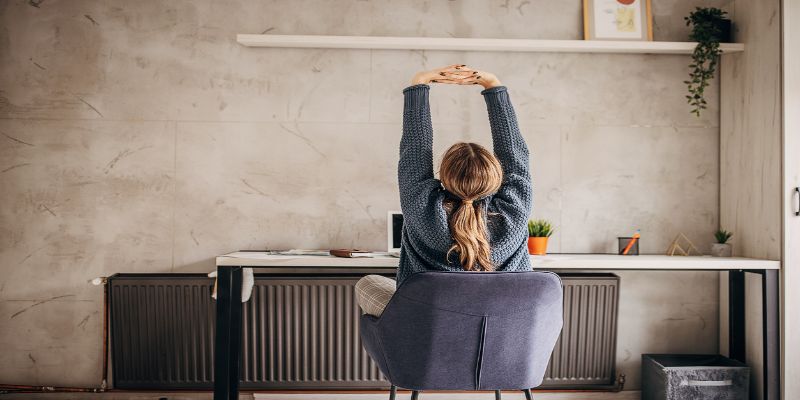
[[[765,270],[761,275],[761,304],[764,312],[764,400],[778,400],[781,397],[778,290],[778,270]]]

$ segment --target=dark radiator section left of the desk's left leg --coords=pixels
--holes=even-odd
[[[212,280],[203,275],[120,274],[108,284],[115,387],[213,387]]]

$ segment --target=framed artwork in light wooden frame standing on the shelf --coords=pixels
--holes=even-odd
[[[585,40],[653,40],[650,0],[583,0]]]

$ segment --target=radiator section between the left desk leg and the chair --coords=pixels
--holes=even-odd
[[[242,387],[387,386],[361,348],[357,280],[258,279],[243,313]]]

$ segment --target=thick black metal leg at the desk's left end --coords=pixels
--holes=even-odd
[[[242,268],[217,267],[217,331],[214,341],[214,400],[239,399],[242,353]]]

